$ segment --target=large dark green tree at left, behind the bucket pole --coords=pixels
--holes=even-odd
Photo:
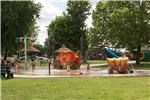
[[[39,18],[41,4],[34,0],[0,0],[0,45],[2,50],[17,50],[23,43],[15,43],[17,37],[31,36],[35,19]],[[5,55],[6,58],[7,55]]]

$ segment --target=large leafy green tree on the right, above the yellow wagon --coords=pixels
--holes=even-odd
[[[102,5],[102,6],[101,6]],[[140,64],[140,48],[150,41],[148,33],[148,23],[150,21],[150,13],[148,13],[148,0],[107,0],[104,4],[99,2],[96,11],[93,11],[93,26],[91,34],[103,37],[100,41],[107,39],[108,42],[117,47],[126,47],[133,49],[137,47],[136,64]],[[104,19],[102,22],[100,19]],[[96,21],[100,23],[96,23]],[[98,28],[106,29],[107,32],[97,30]],[[98,31],[98,32],[95,32]],[[106,38],[105,38],[106,37]]]

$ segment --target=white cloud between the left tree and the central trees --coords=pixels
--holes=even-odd
[[[42,4],[40,18],[37,19],[37,24],[40,26],[40,32],[38,34],[38,41],[40,44],[44,45],[45,39],[48,37],[47,28],[52,20],[55,19],[56,16],[60,16],[62,14],[62,10],[58,7],[54,7],[50,2],[45,0],[37,0]]]

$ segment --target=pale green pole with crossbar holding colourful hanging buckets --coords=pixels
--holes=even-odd
[[[32,37],[17,37],[16,39],[24,39],[25,42],[25,70],[27,70],[27,39],[35,40]]]

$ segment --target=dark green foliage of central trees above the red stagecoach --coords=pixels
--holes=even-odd
[[[48,34],[53,33],[56,44],[59,46],[65,44],[73,51],[81,49],[81,43],[84,43],[84,49],[88,48],[88,35],[85,20],[89,15],[91,5],[88,0],[68,0],[67,12],[57,16],[49,24]],[[83,42],[81,42],[81,37]]]

